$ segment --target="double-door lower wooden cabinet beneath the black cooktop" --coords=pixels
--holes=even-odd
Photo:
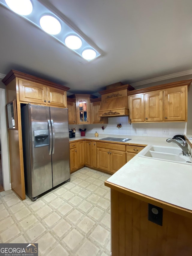
[[[115,173],[126,164],[125,145],[97,142],[97,168]]]

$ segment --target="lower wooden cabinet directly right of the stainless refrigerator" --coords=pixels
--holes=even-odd
[[[69,144],[70,148],[70,173],[84,167],[84,141],[73,142]]]

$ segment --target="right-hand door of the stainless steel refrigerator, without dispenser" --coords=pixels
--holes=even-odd
[[[70,179],[68,109],[50,107],[53,187]]]

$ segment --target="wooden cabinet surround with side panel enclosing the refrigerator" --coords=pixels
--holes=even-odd
[[[11,189],[23,200],[25,179],[23,166],[23,146],[21,129],[21,106],[36,105],[67,107],[68,87],[34,77],[16,70],[11,70],[2,80],[6,85],[7,103],[16,100],[18,130],[8,130]]]

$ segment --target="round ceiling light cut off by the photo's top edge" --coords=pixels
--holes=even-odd
[[[8,7],[17,14],[29,15],[33,6],[30,0],[5,0]]]

